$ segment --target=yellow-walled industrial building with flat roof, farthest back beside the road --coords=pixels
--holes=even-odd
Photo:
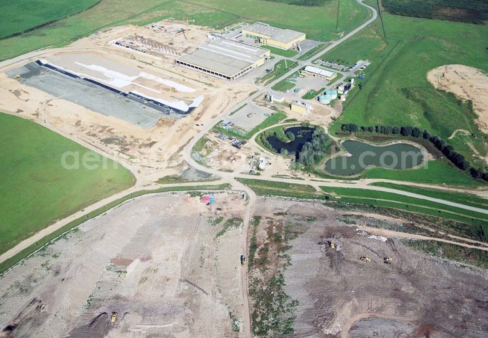
[[[243,38],[250,38],[256,43],[288,50],[304,41],[305,33],[272,27],[263,22],[256,22],[243,27]]]

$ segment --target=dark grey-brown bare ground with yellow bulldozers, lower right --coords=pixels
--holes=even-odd
[[[308,227],[286,250],[285,291],[299,301],[290,337],[486,337],[486,271],[360,235],[321,204],[261,199],[256,213]]]

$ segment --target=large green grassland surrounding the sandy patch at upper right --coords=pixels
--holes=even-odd
[[[348,94],[344,113],[329,131],[338,131],[343,123],[416,126],[446,139],[468,161],[481,166],[475,152],[486,156],[488,140],[474,122],[476,116],[471,104],[436,90],[426,75],[446,64],[464,64],[488,72],[483,57],[488,26],[381,14],[384,29],[378,19],[321,56],[344,64],[356,62],[358,58],[372,62],[364,71],[365,79],[358,79],[356,88]],[[457,129],[465,129],[470,135],[448,139]],[[459,170],[452,174],[463,175]],[[401,179],[402,175],[403,172],[397,172],[395,179]],[[438,181],[453,179],[437,177],[442,177]]]

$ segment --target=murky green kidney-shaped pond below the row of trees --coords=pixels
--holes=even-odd
[[[373,146],[347,140],[342,146],[351,156],[334,157],[325,162],[325,170],[334,175],[349,176],[360,173],[367,167],[408,169],[423,161],[422,150],[406,143],[389,146]]]

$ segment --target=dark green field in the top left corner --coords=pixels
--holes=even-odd
[[[48,22],[81,12],[99,0],[3,0],[0,38],[22,33]]]

